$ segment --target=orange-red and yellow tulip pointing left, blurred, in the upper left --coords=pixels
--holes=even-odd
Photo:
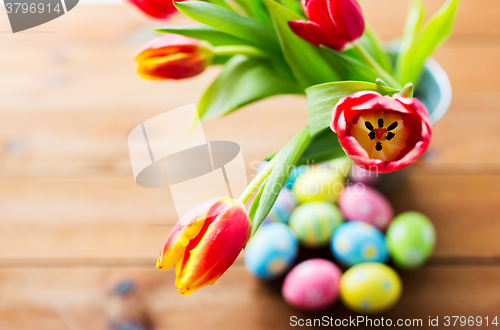
[[[211,45],[177,34],[167,34],[143,45],[135,58],[137,72],[146,79],[184,79],[203,72],[212,61]]]

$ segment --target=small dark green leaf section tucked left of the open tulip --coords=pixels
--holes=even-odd
[[[345,156],[345,153],[339,144],[337,134],[326,129],[312,140],[296,166],[318,164],[341,156]]]

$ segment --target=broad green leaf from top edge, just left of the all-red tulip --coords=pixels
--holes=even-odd
[[[301,17],[272,0],[264,0],[264,4],[273,19],[283,56],[302,88],[339,80],[340,77],[321,55],[321,50],[295,35],[288,26],[289,21]]]

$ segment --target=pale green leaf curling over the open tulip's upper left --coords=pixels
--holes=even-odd
[[[306,89],[309,131],[312,137],[330,127],[333,108],[337,102],[357,91],[375,91],[382,95],[398,92],[397,89],[364,81],[339,81],[312,86]]]

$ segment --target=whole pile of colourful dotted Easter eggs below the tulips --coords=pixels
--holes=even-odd
[[[341,160],[295,168],[245,249],[250,273],[263,280],[285,276],[283,297],[297,309],[324,310],[340,297],[358,313],[386,311],[402,293],[399,275],[386,263],[414,269],[434,248],[426,216],[394,217],[386,197],[368,186],[378,178],[350,167]],[[335,263],[313,258],[296,264],[300,246],[309,252],[329,247]]]

